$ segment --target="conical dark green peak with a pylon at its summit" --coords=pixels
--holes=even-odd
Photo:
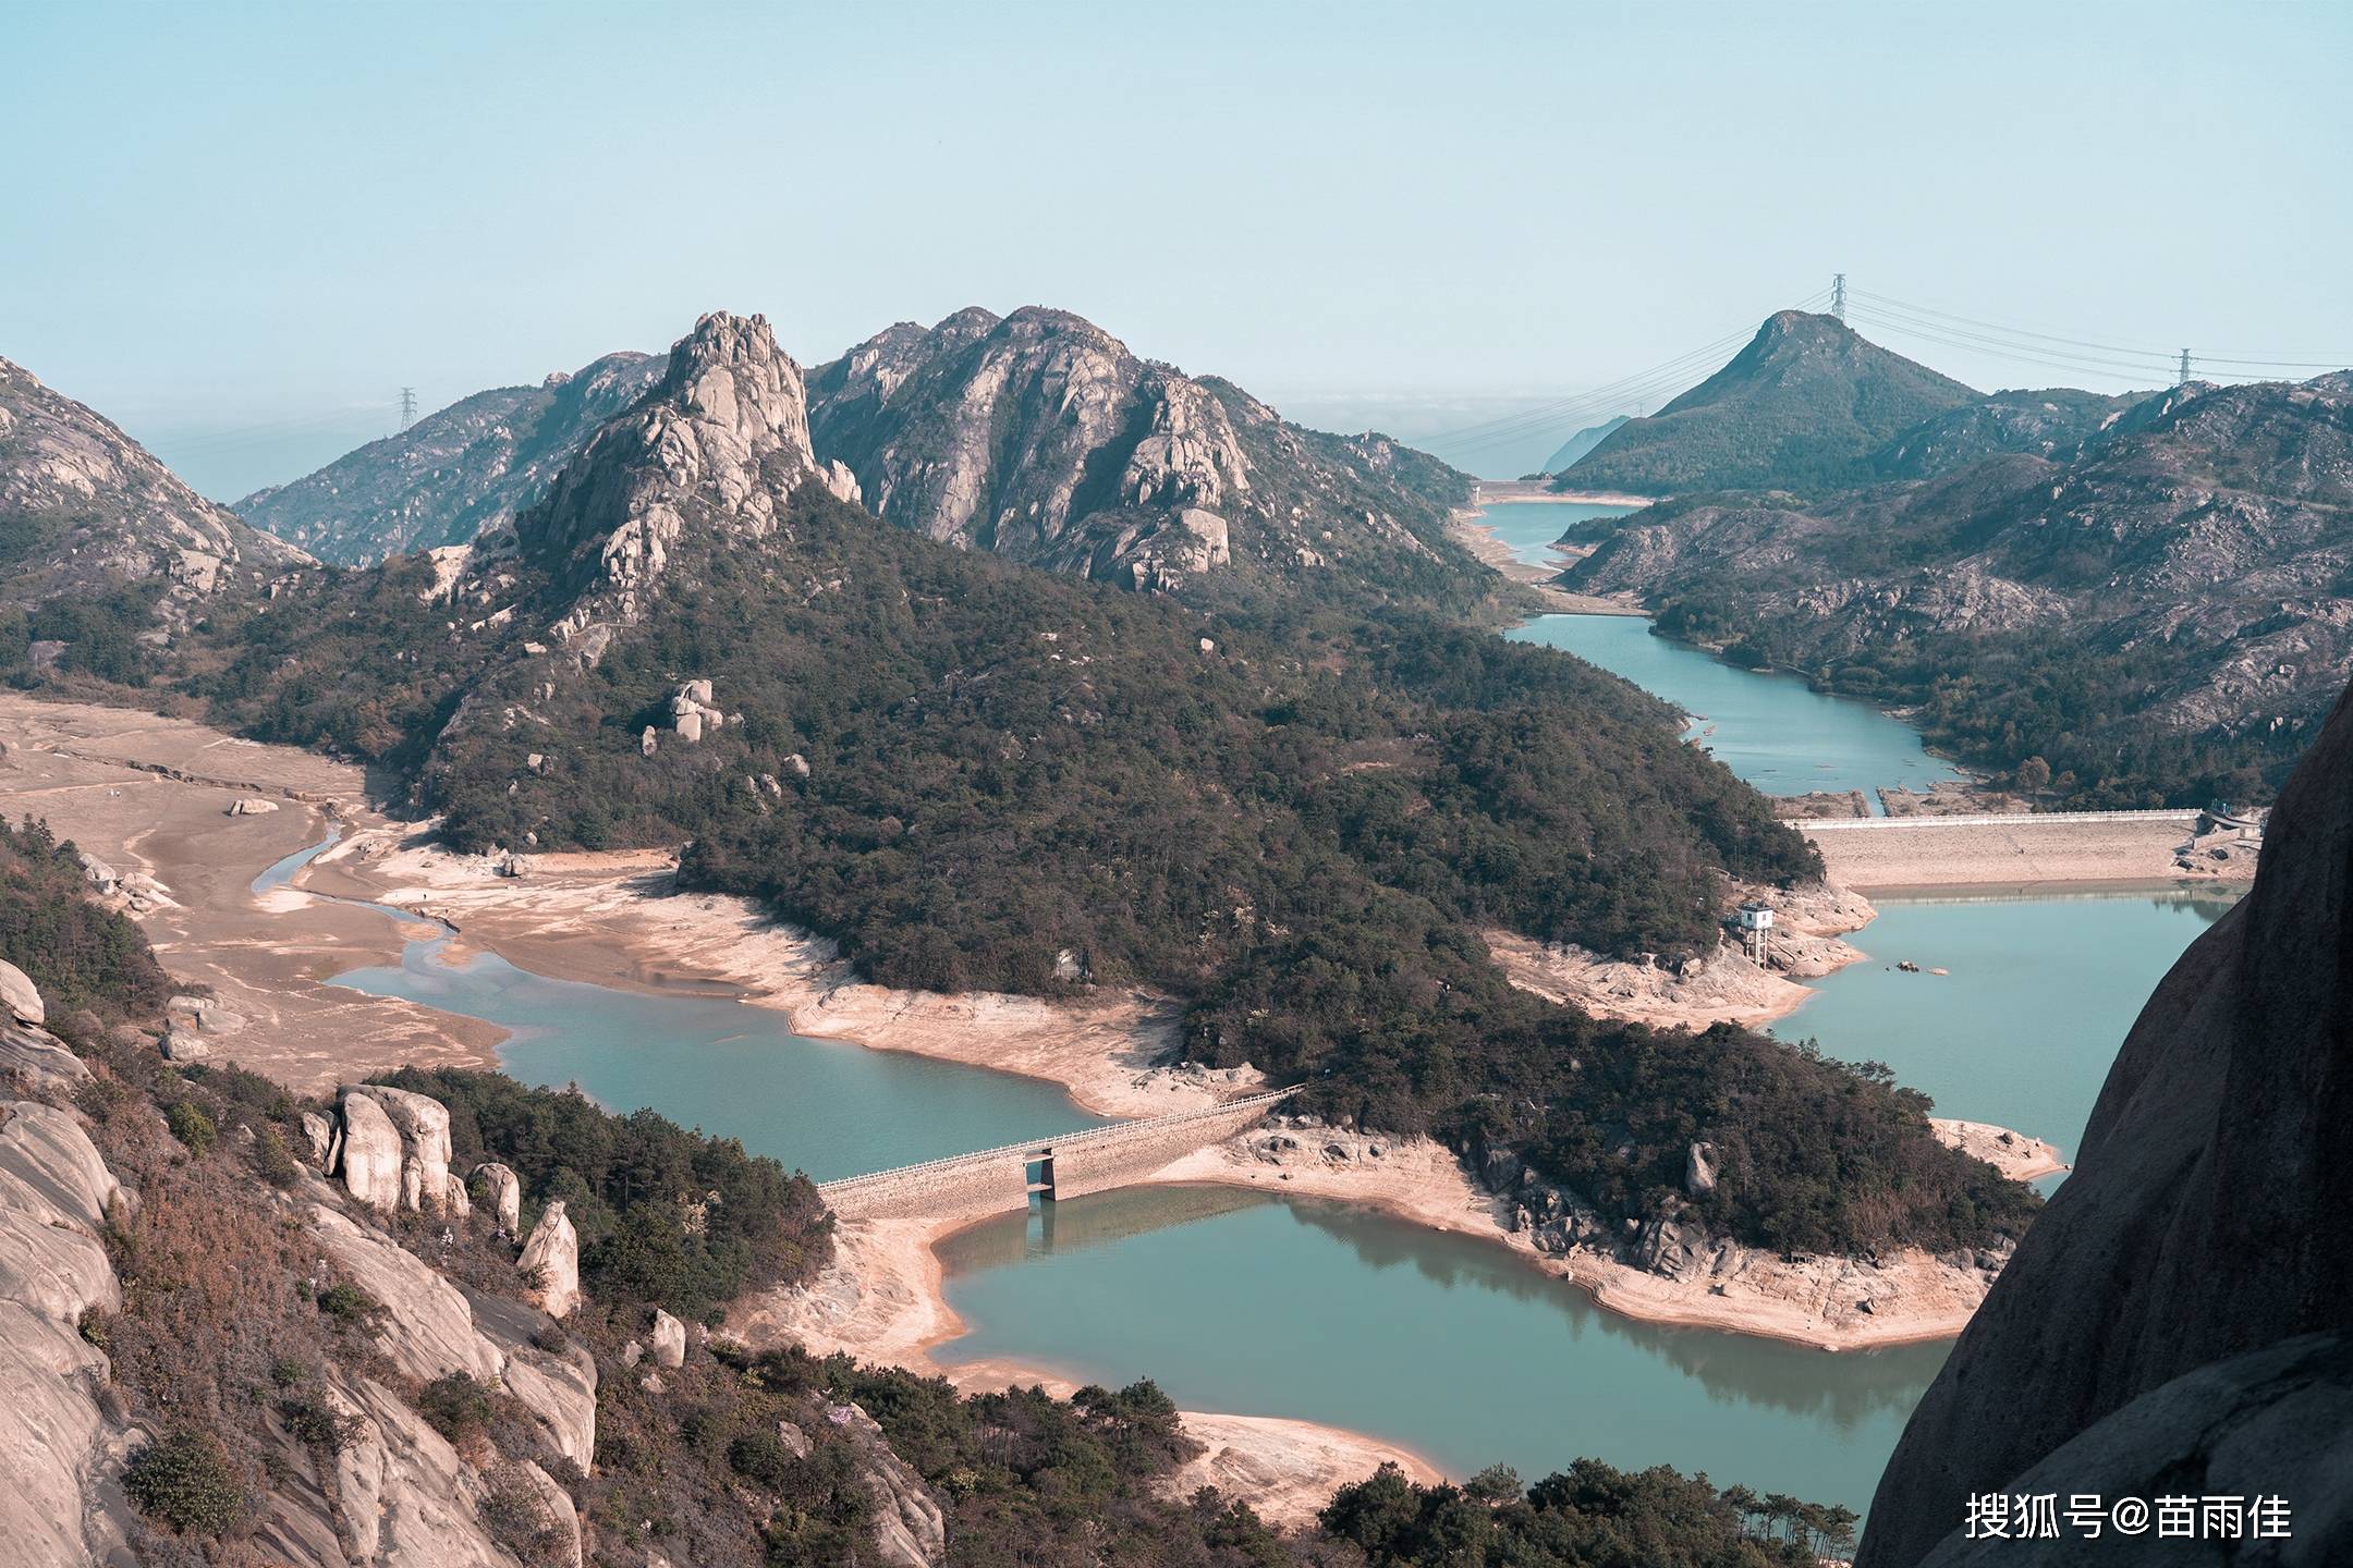
[[[1720,371],[1595,442],[1553,489],[1819,494],[1864,477],[1899,433],[1977,397],[1838,317],[1781,310]]]

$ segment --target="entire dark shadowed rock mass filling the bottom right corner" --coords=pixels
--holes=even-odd
[[[2089,1561],[2353,1561],[2353,696],[2271,816],[2254,891],[2151,997],[1929,1387],[1859,1568],[2087,1561],[1960,1535],[1972,1493],[2287,1495],[2294,1540]]]

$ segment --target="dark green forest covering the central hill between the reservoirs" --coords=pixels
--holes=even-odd
[[[459,849],[689,842],[689,886],[760,898],[887,985],[1160,990],[1191,1056],[1308,1081],[1365,1126],[1513,1147],[1609,1218],[1680,1206],[1713,1140],[1732,1157],[1699,1218],[1755,1246],[2024,1225],[2033,1199],[1937,1145],[1915,1098],[1501,980],[1485,926],[1692,952],[1725,875],[1819,872],[1631,684],[1438,614],[1205,614],[1028,571],[816,487],[781,534],[680,545],[692,592],[588,670],[518,630],[572,592],[522,552],[515,614],[480,623],[416,559],[221,607],[176,689],[407,773]],[[692,745],[668,708],[687,679],[732,715]]]

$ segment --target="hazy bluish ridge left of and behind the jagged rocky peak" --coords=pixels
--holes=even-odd
[[[346,567],[464,545],[539,501],[661,369],[656,355],[612,353],[539,386],[461,397],[313,475],[245,496],[235,512]]]

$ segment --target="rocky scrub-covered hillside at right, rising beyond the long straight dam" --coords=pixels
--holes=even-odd
[[[2111,418],[2113,416],[2113,418]],[[1814,505],[1708,496],[1567,583],[1911,710],[2075,806],[2264,799],[2353,668],[2353,376],[2191,386]]]

